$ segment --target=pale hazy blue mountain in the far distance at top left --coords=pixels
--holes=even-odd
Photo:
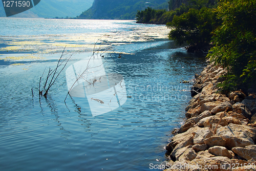
[[[82,11],[89,9],[93,0],[41,0],[38,5],[28,11],[12,17],[53,18],[76,17]],[[3,3],[0,3],[0,17],[6,17]]]

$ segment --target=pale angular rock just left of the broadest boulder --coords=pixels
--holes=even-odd
[[[194,136],[194,144],[204,144],[204,139],[214,135],[214,132],[209,127],[203,127],[198,130]]]

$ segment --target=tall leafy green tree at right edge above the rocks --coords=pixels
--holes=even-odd
[[[217,8],[222,23],[213,32],[215,47],[208,57],[230,70],[219,85],[223,89],[256,83],[255,4],[255,0],[224,0]]]

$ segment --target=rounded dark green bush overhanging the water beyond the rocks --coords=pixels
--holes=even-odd
[[[219,25],[216,19],[215,9],[203,7],[189,9],[188,12],[180,16],[174,16],[173,21],[167,23],[168,28],[172,28],[169,38],[182,45],[187,42],[190,45],[209,44],[211,32]]]

